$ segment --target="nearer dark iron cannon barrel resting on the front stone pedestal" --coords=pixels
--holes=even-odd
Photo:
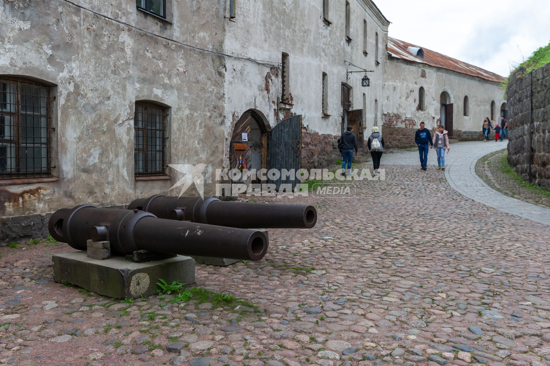
[[[87,240],[109,241],[111,251],[125,255],[139,249],[155,253],[260,260],[267,252],[265,234],[256,230],[180,222],[139,210],[76,206],[54,212],[51,236],[78,250]]]

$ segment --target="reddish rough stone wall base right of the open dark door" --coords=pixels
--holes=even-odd
[[[307,170],[322,169],[334,165],[339,158],[338,138],[302,130],[301,167]]]

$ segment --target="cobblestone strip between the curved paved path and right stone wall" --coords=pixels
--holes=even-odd
[[[483,179],[483,182],[487,183],[489,187],[504,195],[550,209],[550,196],[540,190],[526,187],[524,183],[514,179],[510,174],[502,172],[500,161],[506,159],[506,156],[507,150],[500,150],[483,156],[476,163],[477,176]]]

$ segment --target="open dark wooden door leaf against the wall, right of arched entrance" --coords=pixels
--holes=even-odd
[[[302,148],[302,116],[294,116],[283,119],[271,130],[271,138],[268,151],[268,165],[270,169],[277,169],[282,172],[283,169],[295,172],[300,169],[301,148]],[[279,177],[276,180],[269,180],[269,183],[276,185],[279,189],[281,184],[291,184],[296,187],[298,180],[296,174],[294,179],[289,177]]]

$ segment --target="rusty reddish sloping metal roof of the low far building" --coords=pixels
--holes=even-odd
[[[424,51],[424,57],[417,56],[418,49]],[[411,52],[416,51],[415,53]],[[392,37],[388,37],[388,54],[390,57],[404,59],[406,61],[425,63],[434,67],[442,69],[453,70],[457,73],[471,75],[486,79],[489,81],[496,81],[500,83],[505,80],[502,76],[482,69],[480,67],[471,65],[469,63],[459,61],[458,59],[445,56],[442,53],[438,53],[427,48],[413,45],[412,43],[397,40]]]

